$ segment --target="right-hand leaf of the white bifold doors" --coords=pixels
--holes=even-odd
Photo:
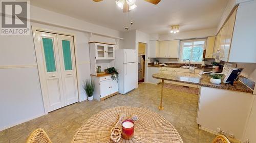
[[[78,102],[74,40],[71,36],[57,35],[61,77],[65,105]]]

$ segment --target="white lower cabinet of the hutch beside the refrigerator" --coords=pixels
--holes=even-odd
[[[118,93],[118,82],[112,80],[111,75],[103,77],[92,75],[92,80],[95,83],[94,99],[101,101]]]

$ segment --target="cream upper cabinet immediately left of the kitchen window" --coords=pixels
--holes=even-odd
[[[160,58],[179,58],[180,40],[160,41]]]

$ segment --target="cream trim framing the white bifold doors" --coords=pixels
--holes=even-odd
[[[57,31],[57,30],[49,30],[48,28],[42,28],[42,27],[36,27],[36,26],[31,26],[32,28],[32,34],[33,34],[33,42],[34,42],[34,48],[35,48],[35,56],[36,56],[36,63],[39,61],[38,60],[38,56],[36,55],[36,32],[46,32],[46,33],[51,33],[51,34],[59,34],[59,35],[66,35],[66,36],[72,36],[73,37],[73,40],[74,40],[74,51],[75,51],[75,65],[76,65],[76,78],[77,78],[77,93],[78,93],[78,101],[81,102],[81,94],[80,94],[80,81],[78,80],[79,79],[79,74],[78,74],[78,60],[77,60],[77,47],[76,47],[76,36],[75,34],[72,34],[72,33],[66,33],[66,32],[60,32],[60,31]],[[42,87],[42,84],[41,84],[41,81],[43,80],[42,77],[40,76],[40,71],[39,71],[39,64],[37,63],[37,71],[38,71],[38,75],[39,75],[39,81],[40,81],[40,88],[41,88],[41,94],[42,94],[42,101],[43,101],[43,104],[44,104],[44,109],[45,109],[45,115],[48,114],[48,103],[45,101],[45,99],[47,97],[45,97],[45,94],[44,94],[44,89]]]

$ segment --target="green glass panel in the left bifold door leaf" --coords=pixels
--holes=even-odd
[[[42,38],[42,45],[44,46],[45,60],[46,60],[46,70],[47,72],[55,72],[55,58],[53,50],[53,39]]]

